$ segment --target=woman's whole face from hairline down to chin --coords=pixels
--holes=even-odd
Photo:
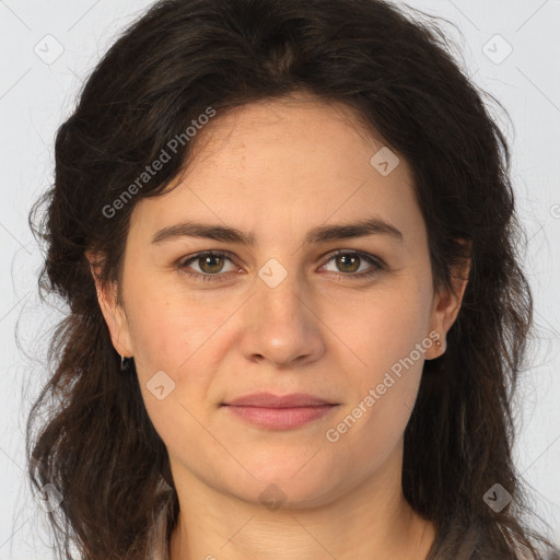
[[[102,301],[175,480],[298,506],[400,477],[423,362],[459,304],[433,292],[410,167],[312,98],[197,133],[177,186],[135,207],[122,308]],[[255,393],[317,401],[233,406]]]

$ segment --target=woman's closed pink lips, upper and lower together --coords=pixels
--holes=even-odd
[[[256,393],[236,398],[225,406],[250,423],[290,430],[324,417],[338,405],[301,393],[282,397],[271,393]]]

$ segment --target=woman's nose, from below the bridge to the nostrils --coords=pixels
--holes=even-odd
[[[257,278],[255,290],[243,308],[243,355],[276,368],[318,360],[325,352],[323,324],[296,275],[288,273],[277,285]]]

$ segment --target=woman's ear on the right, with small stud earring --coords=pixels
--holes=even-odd
[[[467,245],[469,247],[470,253],[471,242],[465,240],[458,241],[463,245]],[[452,288],[442,289],[434,294],[433,307],[430,319],[430,332],[435,331],[439,335],[438,340],[442,342],[442,346],[435,343],[432,345],[432,347],[425,352],[425,357],[428,360],[439,358],[445,352],[445,338],[447,336],[447,331],[450,330],[450,328],[455,323],[455,319],[457,318],[457,315],[460,310],[460,304],[463,302],[463,296],[467,288],[468,275],[470,271],[470,261],[471,259],[469,256],[468,258],[464,259],[458,265],[456,265],[452,270]]]

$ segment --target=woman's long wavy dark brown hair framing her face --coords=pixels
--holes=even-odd
[[[425,362],[406,428],[407,500],[434,522],[438,546],[476,527],[480,558],[539,558],[547,541],[529,528],[512,460],[533,302],[510,153],[451,46],[434,23],[381,0],[163,0],[98,62],[58,129],[54,185],[30,217],[46,249],[42,288],[69,306],[27,424],[31,479],[63,497],[48,514],[62,558],[72,548],[86,560],[145,558],[158,513],[168,512],[167,532],[178,513],[165,445],[133,362],[120,372],[85,252],[104,255],[103,282],[119,282],[135,205],[187,165],[192,120],[294,92],[353,108],[410,163],[435,288],[451,288],[450,270],[471,257],[447,350]],[[122,199],[162,150],[170,160]],[[499,512],[482,498],[495,483],[513,499]]]

